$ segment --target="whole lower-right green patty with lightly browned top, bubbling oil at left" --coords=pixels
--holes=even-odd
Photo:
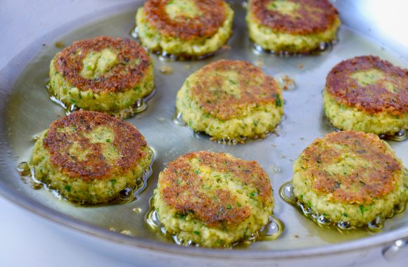
[[[402,162],[372,133],[342,131],[316,139],[293,166],[298,202],[332,223],[366,226],[408,198]]]

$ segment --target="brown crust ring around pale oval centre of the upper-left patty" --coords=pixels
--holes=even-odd
[[[118,63],[106,74],[96,79],[82,77],[82,61],[91,51],[99,52],[105,48],[112,49]],[[81,53],[77,53],[81,51]],[[140,60],[138,65],[129,64],[134,60]],[[148,53],[130,39],[114,39],[112,37],[96,37],[75,41],[63,51],[56,55],[54,66],[58,73],[72,86],[79,90],[92,90],[95,93],[127,91],[136,86],[146,74],[151,65]]]

